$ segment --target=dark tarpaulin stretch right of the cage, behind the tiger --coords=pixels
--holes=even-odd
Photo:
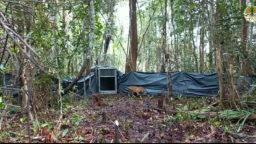
[[[193,74],[172,72],[174,95],[213,96],[218,95],[218,74]],[[119,93],[127,93],[130,85],[144,87],[150,95],[159,95],[164,88],[167,93],[168,81],[166,73],[129,72],[119,80]]]

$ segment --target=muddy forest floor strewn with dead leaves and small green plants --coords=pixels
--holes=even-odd
[[[40,129],[30,122],[32,142],[114,143],[114,121],[119,122],[120,143],[256,142],[254,122],[245,122],[237,132],[237,121],[217,121],[216,117],[188,114],[188,107],[190,111],[203,111],[205,105],[213,103],[212,98],[192,98],[190,104],[187,98],[175,98],[173,106],[170,102],[165,104],[164,112],[157,108],[157,96],[141,99],[103,95],[101,100],[100,106],[92,104],[92,100],[73,101],[69,106],[63,103],[62,114],[53,109],[38,113]],[[106,112],[106,122],[103,122],[103,112]],[[28,143],[25,119],[21,116],[7,118],[0,131],[0,142]]]

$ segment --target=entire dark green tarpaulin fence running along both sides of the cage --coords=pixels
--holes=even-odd
[[[97,93],[98,90],[98,75],[96,67],[93,68],[93,73],[91,74],[91,87],[92,91],[89,89],[89,79],[90,76],[80,77],[76,84],[76,92],[80,96],[83,96],[84,80],[86,85],[86,94],[88,97],[92,93]],[[172,84],[173,84],[173,94],[183,95],[183,96],[215,96],[218,95],[219,91],[219,81],[217,73],[210,74],[196,74],[188,72],[172,72]],[[242,91],[242,80],[239,78],[236,80],[236,87],[239,91]],[[256,76],[249,78],[245,77],[245,85],[250,88],[252,83],[255,83]],[[72,78],[64,78],[62,80],[62,87],[66,88],[72,82]],[[6,74],[5,77],[6,87],[11,86],[11,75]],[[109,83],[111,84],[111,83]],[[113,83],[112,83],[113,84]],[[117,93],[127,93],[128,87],[130,85],[141,86],[147,90],[148,95],[160,95],[162,89],[164,88],[164,93],[167,93],[168,80],[166,78],[166,73],[156,73],[156,72],[129,72],[128,74],[122,74],[117,71]],[[3,87],[2,83],[2,87]],[[17,85],[18,86],[18,85]],[[19,88],[19,87],[15,88]],[[15,90],[17,93],[17,90]]]

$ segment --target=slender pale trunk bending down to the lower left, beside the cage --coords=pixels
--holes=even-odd
[[[75,83],[79,80],[79,78],[82,76],[85,69],[89,67],[90,69],[90,60],[92,57],[92,51],[93,51],[93,43],[94,43],[94,37],[95,37],[95,11],[94,11],[94,4],[93,0],[90,1],[90,22],[91,22],[91,32],[90,32],[90,44],[87,48],[87,56],[85,57],[85,61],[83,61],[83,66],[79,70],[79,73],[73,78],[72,83],[69,84],[67,88],[65,88],[64,93],[67,93],[72,87],[74,87]]]

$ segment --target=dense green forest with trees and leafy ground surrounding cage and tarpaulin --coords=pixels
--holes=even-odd
[[[255,4],[0,1],[0,142],[255,142]],[[166,73],[168,95],[75,93],[105,64]],[[219,94],[175,96],[171,72],[216,73]]]

